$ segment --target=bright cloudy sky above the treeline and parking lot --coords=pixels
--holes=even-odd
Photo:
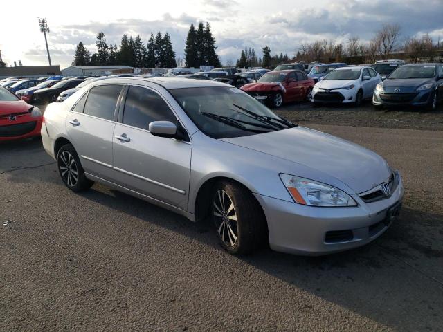
[[[168,32],[177,57],[184,57],[190,24],[208,21],[221,62],[235,62],[245,47],[270,46],[274,54],[294,55],[300,44],[317,39],[347,42],[359,36],[365,43],[382,24],[398,23],[401,39],[428,33],[443,40],[443,0],[161,0],[161,1],[3,1],[0,50],[8,65],[48,64],[44,36],[37,17],[46,17],[53,64],[71,65],[82,41],[94,53],[96,35],[120,44],[124,33]],[[258,50],[258,51],[257,51]]]

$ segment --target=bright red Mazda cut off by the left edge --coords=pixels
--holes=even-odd
[[[0,142],[40,136],[42,112],[0,86]]]

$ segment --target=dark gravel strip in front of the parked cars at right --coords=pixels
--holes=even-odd
[[[443,130],[443,105],[437,112],[420,109],[374,109],[371,102],[361,107],[328,105],[314,107],[309,102],[290,103],[276,111],[298,124],[333,124],[354,127],[382,127],[403,129]]]

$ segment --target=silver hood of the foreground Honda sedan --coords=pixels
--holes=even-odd
[[[222,140],[323,172],[357,194],[383,183],[392,172],[378,154],[305,127]]]

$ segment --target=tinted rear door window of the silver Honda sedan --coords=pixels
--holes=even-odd
[[[105,120],[114,120],[114,111],[121,89],[121,85],[94,86],[89,90],[88,99],[84,105],[84,114]]]

